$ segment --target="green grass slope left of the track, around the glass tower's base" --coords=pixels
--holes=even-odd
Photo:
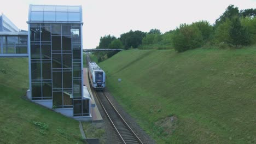
[[[0,143],[83,143],[79,123],[22,98],[27,58],[0,58]]]

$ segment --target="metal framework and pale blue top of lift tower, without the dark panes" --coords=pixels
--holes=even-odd
[[[78,17],[69,17],[72,15],[79,15]],[[59,17],[58,17],[59,16]],[[28,13],[28,29],[29,31],[32,31],[31,28],[35,27],[32,25],[38,25],[39,28],[39,41],[31,41],[31,33],[32,32],[28,32],[28,58],[29,58],[29,76],[30,76],[30,89],[31,89],[31,98],[32,101],[33,100],[37,100],[37,101],[44,101],[44,98],[46,99],[50,99],[54,105],[54,99],[57,98],[57,96],[55,97],[55,94],[57,94],[58,92],[62,93],[62,105],[57,105],[56,106],[56,110],[70,110],[70,108],[73,108],[73,116],[78,116],[78,117],[90,117],[90,100],[88,98],[84,98],[84,88],[83,88],[83,19],[82,19],[82,7],[81,6],[68,6],[68,5],[30,5],[29,8],[29,13]],[[42,27],[50,27],[50,41],[42,41],[42,31],[44,31],[45,29],[43,29]],[[58,35],[54,35],[55,33],[53,32],[53,26],[54,25],[59,25],[60,26],[60,33],[58,33]],[[63,26],[67,26],[70,27],[70,32],[65,33],[63,32]],[[74,31],[73,31],[74,30]],[[74,33],[73,33],[74,32]],[[80,38],[79,41],[75,41],[75,39],[73,39],[73,36],[75,35],[75,32],[78,32],[78,37]],[[34,33],[34,35],[36,35],[37,32]],[[68,35],[68,36],[67,36]],[[35,36],[36,37],[36,36]],[[60,50],[56,50],[55,47],[53,47],[54,45],[54,37],[59,37],[61,39],[61,44],[60,44]],[[63,41],[63,37],[70,37],[70,43],[71,43],[71,47],[70,50],[63,50],[64,47],[64,42]],[[56,39],[55,38],[55,39]],[[58,38],[58,39],[59,39]],[[66,42],[65,42],[66,43]],[[69,43],[69,42],[67,42]],[[33,53],[32,53],[32,49],[36,49],[34,47],[31,47],[32,45],[38,44],[40,45],[38,49],[40,53],[39,59],[33,59]],[[42,45],[44,44],[49,44],[50,45],[50,58],[49,63],[51,63],[51,79],[49,80],[44,80],[43,79],[43,63],[44,59],[42,59],[42,50],[43,47]],[[55,49],[55,50],[54,50]],[[69,49],[69,48],[68,48]],[[78,49],[80,49],[80,58],[74,58],[74,52],[75,50],[77,50],[76,52],[78,52]],[[76,53],[78,54],[78,53]],[[71,61],[70,61],[70,66],[68,67],[64,67],[64,65],[66,64],[67,57],[64,58],[65,56],[71,56]],[[58,58],[60,57],[61,59],[57,59],[55,58],[55,56],[57,56]],[[47,60],[47,61],[48,61]],[[65,61],[65,64],[63,63]],[[61,68],[56,68],[53,66],[53,63],[58,63],[61,65]],[[32,71],[32,64],[33,63],[39,63],[40,68],[40,79],[33,79],[33,75],[34,72]],[[48,62],[47,62],[48,63]],[[79,73],[79,77],[74,76],[74,65],[79,65],[80,66],[80,70],[78,70]],[[71,81],[72,81],[72,87],[70,88],[66,88],[64,87],[64,79],[66,78],[66,76],[64,77],[64,73],[65,71],[67,71],[68,73],[71,72]],[[80,71],[80,72],[79,72]],[[61,87],[54,87],[54,75],[57,74],[55,72],[61,72]],[[54,74],[55,73],[55,74]],[[76,71],[77,73],[77,71]],[[69,78],[67,78],[69,80]],[[55,79],[56,80],[56,79]],[[59,78],[58,78],[59,80]],[[51,83],[51,97],[43,97],[43,83]],[[79,86],[75,85],[76,82],[79,82]],[[33,83],[41,83],[40,84],[40,97],[38,97],[39,95],[33,95],[33,91],[36,92],[35,89],[33,89]],[[50,85],[50,84],[49,84]],[[76,87],[74,87],[76,86]],[[75,97],[75,92],[74,89],[76,89],[76,91],[80,91],[79,96]],[[77,90],[78,89],[78,90]],[[68,94],[70,99],[72,98],[72,105],[65,105],[64,104],[64,94]],[[60,93],[59,93],[60,94]],[[57,95],[59,95],[57,94]],[[59,96],[58,96],[59,97]],[[80,100],[80,102],[79,102]],[[84,100],[88,100],[88,113],[83,113],[83,101]],[[75,103],[78,102],[80,105],[80,109],[81,109],[81,113],[78,113],[77,115],[75,114],[75,109],[77,109],[75,106]],[[87,103],[87,102],[86,102]],[[87,106],[86,106],[87,107]],[[86,109],[86,108],[85,108]]]

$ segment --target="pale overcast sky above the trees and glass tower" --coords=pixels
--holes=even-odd
[[[0,12],[20,29],[27,30],[28,5],[82,5],[83,49],[95,48],[100,37],[132,31],[162,33],[181,23],[206,20],[214,23],[229,4],[241,9],[256,8],[256,0],[1,0]]]

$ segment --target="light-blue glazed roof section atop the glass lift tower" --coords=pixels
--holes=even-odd
[[[82,6],[30,5],[28,23],[83,23]]]

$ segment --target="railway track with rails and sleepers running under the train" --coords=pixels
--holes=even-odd
[[[90,62],[90,57],[88,55],[87,62]],[[112,125],[120,141],[122,143],[143,143],[126,123],[125,119],[120,115],[117,109],[115,109],[115,106],[108,99],[106,93],[104,93],[104,91],[96,91],[95,93],[109,123]]]

